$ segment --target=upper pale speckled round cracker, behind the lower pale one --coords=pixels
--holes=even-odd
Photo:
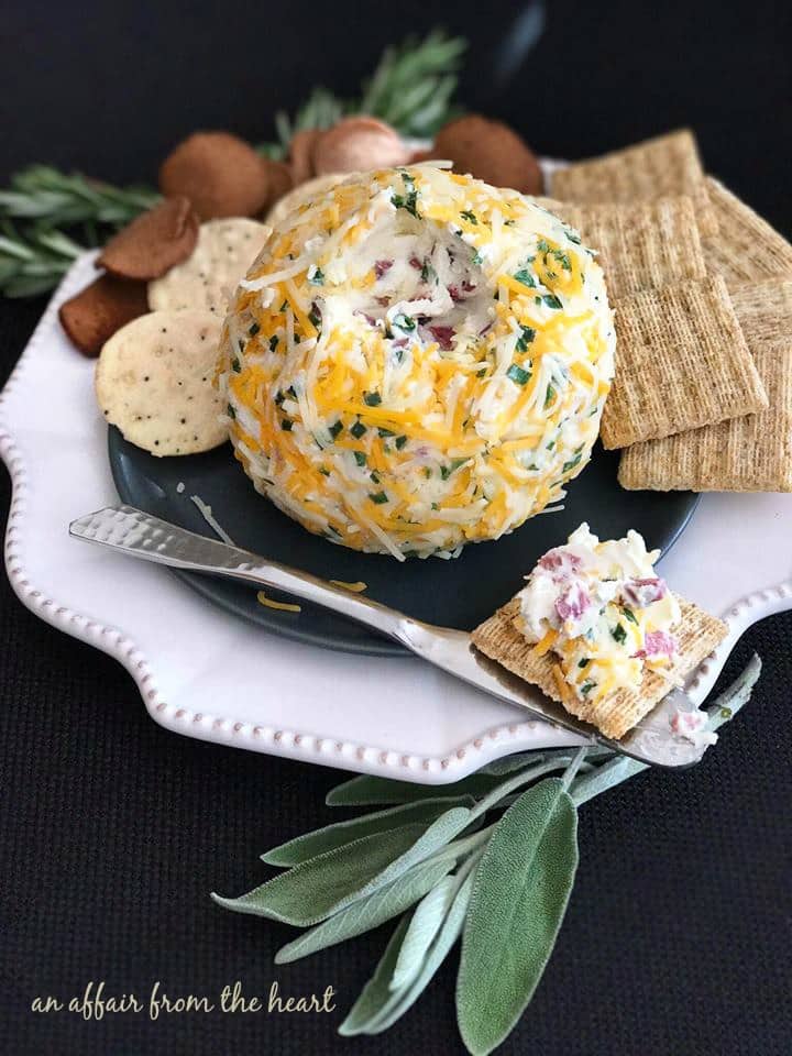
[[[206,309],[223,318],[230,295],[261,252],[271,229],[245,217],[210,220],[198,231],[193,253],[162,278],[148,283],[152,311]]]

